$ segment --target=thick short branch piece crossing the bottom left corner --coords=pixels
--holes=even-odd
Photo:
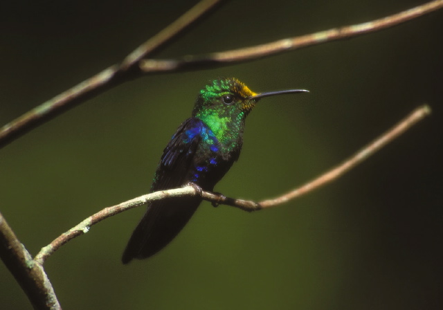
[[[61,309],[41,264],[35,262],[0,213],[0,257],[34,309]]]

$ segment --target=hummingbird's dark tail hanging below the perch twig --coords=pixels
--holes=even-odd
[[[198,197],[190,197],[158,201],[148,206],[123,252],[123,264],[159,252],[188,223],[200,203]]]

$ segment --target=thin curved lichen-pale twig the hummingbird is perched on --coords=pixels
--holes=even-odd
[[[308,192],[312,192],[320,186],[326,185],[329,182],[334,181],[339,176],[342,176],[348,170],[355,167],[357,164],[364,161],[370,155],[377,152],[381,147],[390,143],[392,140],[403,134],[407,129],[413,127],[419,120],[422,120],[425,116],[428,116],[431,113],[431,108],[427,105],[419,107],[415,109],[410,115],[406,116],[401,122],[392,127],[392,129],[386,131],[386,133],[382,134],[374,140],[369,145],[366,145],[359,152],[356,152],[354,156],[351,156],[346,161],[344,161],[341,165],[338,165],[329,172],[322,174],[318,178],[314,179],[314,181],[310,181],[305,185],[302,185],[300,188],[293,190],[287,194],[283,194],[280,197],[260,201],[256,203],[255,201],[248,201],[242,199],[233,199],[224,197],[221,194],[215,194],[213,192],[205,192],[196,186],[186,186],[184,188],[176,188],[173,190],[161,190],[159,192],[153,192],[151,194],[146,194],[141,197],[137,197],[131,199],[129,201],[125,201],[116,206],[111,206],[105,208],[91,217],[84,219],[80,224],[71,228],[66,233],[63,233],[56,239],[54,239],[51,244],[45,246],[40,250],[40,252],[35,256],[35,261],[39,262],[39,264],[43,264],[45,260],[52,255],[55,250],[60,248],[63,244],[66,244],[69,240],[78,237],[79,235],[83,235],[89,231],[89,228],[94,224],[106,219],[107,217],[111,217],[113,215],[117,215],[120,212],[135,208],[137,206],[142,206],[149,201],[159,200],[159,199],[171,199],[177,197],[185,197],[185,196],[201,196],[202,199],[211,201],[216,204],[224,204],[228,206],[233,206],[236,208],[240,208],[246,211],[256,211],[262,210],[264,208],[273,208],[276,206],[280,206],[282,203],[285,203],[291,199],[295,199],[297,197],[302,196],[302,194],[307,194]]]

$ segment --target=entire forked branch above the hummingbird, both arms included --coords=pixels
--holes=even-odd
[[[188,30],[190,26],[195,25],[202,17],[207,16],[208,12],[220,2],[221,0],[201,1],[186,12],[185,15],[161,31],[161,33],[152,37],[152,39],[129,54],[123,61],[123,64],[110,66],[105,71],[94,75],[92,78],[85,80],[72,89],[57,95],[55,98],[44,102],[16,120],[12,120],[12,122],[4,125],[0,129],[0,148],[8,145],[8,143],[11,143],[19,136],[26,134],[26,132],[47,120],[51,120],[60,113],[75,107],[75,105],[93,98],[112,86],[137,78],[143,75],[143,73],[153,74],[210,69],[215,66],[228,66],[237,62],[257,60],[285,51],[293,51],[297,48],[356,37],[364,33],[392,27],[443,8],[443,0],[435,0],[375,21],[334,28],[301,37],[281,39],[259,46],[250,46],[234,51],[211,53],[208,55],[189,55],[177,60],[143,60],[143,58],[151,57],[152,54],[170,43],[172,39],[177,38],[184,31]]]

